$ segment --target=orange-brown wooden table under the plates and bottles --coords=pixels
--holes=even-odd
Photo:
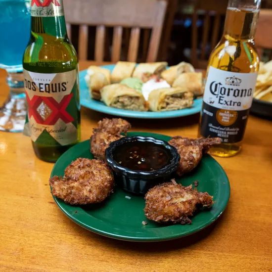
[[[0,71],[0,103],[7,95],[4,77]],[[82,140],[103,117],[82,107]],[[129,121],[134,131],[195,137],[198,120]],[[241,153],[216,159],[231,186],[216,223],[178,240],[126,242],[68,219],[50,194],[53,164],[36,158],[30,138],[0,132],[0,271],[272,271],[272,122],[250,116]]]

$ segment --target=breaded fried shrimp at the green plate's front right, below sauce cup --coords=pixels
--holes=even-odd
[[[181,225],[191,224],[189,216],[193,215],[197,204],[211,207],[213,197],[207,192],[192,190],[192,185],[182,186],[175,182],[165,182],[151,188],[145,195],[145,216],[158,223]]]

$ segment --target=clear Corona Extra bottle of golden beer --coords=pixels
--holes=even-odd
[[[260,0],[229,0],[224,35],[209,59],[199,136],[221,138],[213,155],[234,156],[241,149],[259,69],[259,9]]]

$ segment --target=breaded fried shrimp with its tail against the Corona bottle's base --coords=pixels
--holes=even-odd
[[[179,176],[191,172],[200,162],[203,153],[213,145],[221,143],[220,138],[197,138],[189,139],[181,136],[172,137],[169,143],[175,146],[181,156],[177,170]]]

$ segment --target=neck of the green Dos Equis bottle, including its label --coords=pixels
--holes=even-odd
[[[67,30],[62,0],[32,0],[31,31],[63,38]]]

